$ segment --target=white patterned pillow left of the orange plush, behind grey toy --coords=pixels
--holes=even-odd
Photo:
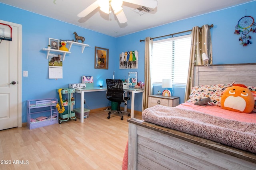
[[[199,98],[211,98],[210,104],[212,106],[220,106],[220,99],[222,93],[227,87],[233,86],[233,83],[229,84],[214,84],[192,87],[189,100],[187,102],[195,103]],[[220,106],[221,107],[221,106]]]

